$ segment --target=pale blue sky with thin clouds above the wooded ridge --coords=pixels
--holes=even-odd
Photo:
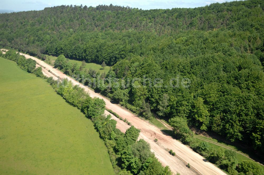
[[[113,4],[118,6],[129,6],[133,8],[142,9],[171,9],[171,8],[194,8],[209,5],[211,3],[219,2],[223,3],[226,1],[233,0],[101,0],[101,1],[91,1],[91,0],[2,0],[0,2],[0,9],[15,10],[15,11],[29,11],[29,10],[42,10],[45,7],[53,7],[60,5],[87,5],[97,6],[99,4]]]

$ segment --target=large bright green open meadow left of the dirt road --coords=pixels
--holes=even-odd
[[[45,82],[0,57],[0,174],[114,174],[93,127]]]

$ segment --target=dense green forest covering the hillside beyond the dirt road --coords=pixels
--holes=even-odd
[[[98,92],[145,118],[181,120],[263,154],[263,10],[261,0],[154,10],[57,6],[0,14],[0,45],[41,59],[62,54],[56,66],[84,84],[95,78]],[[100,75],[63,55],[112,69]],[[140,79],[122,86],[133,78]],[[155,78],[159,87],[150,86]],[[183,78],[188,88],[171,86]]]

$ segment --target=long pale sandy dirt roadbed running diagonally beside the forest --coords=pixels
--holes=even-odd
[[[123,119],[127,119],[132,125],[136,128],[140,129],[139,138],[143,138],[146,142],[148,142],[151,146],[152,151],[155,153],[155,156],[158,160],[163,164],[163,166],[169,166],[173,173],[180,174],[204,174],[204,175],[214,175],[214,174],[225,174],[214,164],[206,161],[204,157],[195,153],[193,150],[173,139],[172,137],[165,135],[161,132],[161,130],[154,125],[151,125],[145,120],[142,120],[136,117],[134,114],[130,113],[128,110],[121,108],[116,104],[112,104],[108,99],[104,98],[102,95],[95,93],[93,90],[89,89],[87,86],[82,85],[78,81],[72,79],[71,77],[63,74],[57,69],[54,69],[52,66],[46,64],[45,62],[32,57],[30,55],[24,55],[26,58],[31,58],[36,60],[37,64],[42,66],[43,72],[51,73],[47,74],[47,76],[59,76],[60,78],[68,78],[73,82],[73,85],[79,85],[84,88],[87,92],[89,92],[91,97],[98,97],[105,101],[106,108],[111,109]],[[49,71],[50,70],[50,71]],[[109,114],[108,111],[105,111],[106,114]],[[117,121],[116,127],[120,129],[122,132],[125,132],[127,128],[130,126],[126,124],[124,121],[116,118],[112,115],[112,118]],[[154,142],[154,139],[157,138],[158,142]],[[173,157],[168,153],[168,150],[172,149],[176,156]],[[187,168],[186,164],[190,163],[191,168]]]

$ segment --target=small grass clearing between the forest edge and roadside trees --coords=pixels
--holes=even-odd
[[[57,59],[57,57],[52,56],[52,55],[46,55],[46,57],[50,59],[50,61],[51,61],[51,65],[52,65],[53,62]],[[45,61],[45,62],[49,64],[48,61]],[[71,63],[73,63],[73,64],[74,64],[74,63],[77,63],[78,66],[80,66],[80,65],[82,64],[82,61],[78,61],[78,60],[71,60],[71,59],[69,59],[69,62],[71,62]],[[101,65],[99,65],[99,64],[95,64],[95,63],[86,63],[85,68],[88,69],[88,70],[89,70],[90,68],[92,68],[92,69],[94,69],[94,70],[96,70],[96,71],[99,71],[100,74],[102,74],[103,72],[107,73],[107,72],[109,71],[109,69],[110,69],[109,66],[106,66],[105,69],[103,69]]]

